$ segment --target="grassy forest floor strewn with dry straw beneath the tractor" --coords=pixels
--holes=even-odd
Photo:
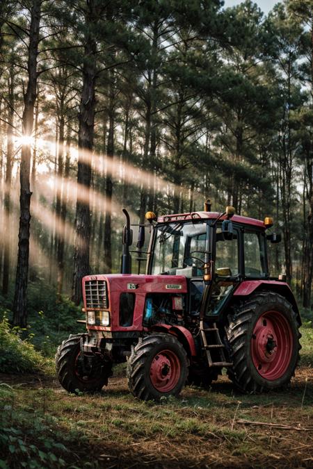
[[[42,438],[42,446],[49,437],[57,442],[60,467],[312,468],[311,332],[307,339],[302,364],[285,390],[241,395],[224,375],[210,390],[187,386],[179,398],[156,404],[129,393],[122,369],[102,393],[79,396],[65,392],[54,377],[0,374],[10,390],[3,409],[11,413],[11,425],[18,420],[24,438],[37,444]]]

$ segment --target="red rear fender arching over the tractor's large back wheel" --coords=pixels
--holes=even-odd
[[[246,280],[240,283],[238,288],[236,288],[234,291],[234,297],[247,297],[252,293],[258,292],[260,290],[275,292],[278,293],[278,295],[282,295],[282,297],[286,298],[289,303],[292,304],[292,307],[296,312],[298,323],[300,325],[302,324],[294,293],[292,293],[288,283],[275,280]]]

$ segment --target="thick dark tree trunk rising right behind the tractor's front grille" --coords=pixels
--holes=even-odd
[[[83,186],[84,199],[81,200],[77,197],[76,206],[76,240],[72,286],[72,299],[76,304],[81,301],[81,280],[90,272],[90,182],[95,126],[96,54],[97,44],[95,40],[93,37],[87,37],[85,45],[86,60],[83,64],[83,90],[79,110],[77,190],[79,191],[80,186]]]

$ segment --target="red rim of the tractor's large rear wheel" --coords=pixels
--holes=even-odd
[[[251,339],[252,361],[259,375],[273,381],[286,372],[291,360],[294,338],[287,318],[279,311],[266,311]]]

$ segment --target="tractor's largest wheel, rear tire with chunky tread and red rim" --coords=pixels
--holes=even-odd
[[[301,348],[297,315],[278,293],[259,292],[237,309],[228,329],[236,388],[259,393],[285,386],[294,375]]]

